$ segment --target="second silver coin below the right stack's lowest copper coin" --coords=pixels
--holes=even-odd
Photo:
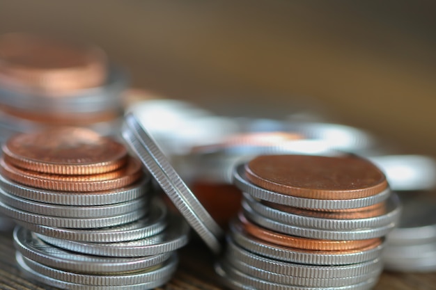
[[[281,275],[311,279],[332,279],[365,275],[366,273],[380,270],[382,267],[381,259],[373,259],[371,261],[346,266],[313,266],[277,261],[244,250],[236,245],[232,239],[227,239],[227,242],[225,259],[236,268],[238,268],[236,264],[242,262],[248,266],[258,268],[259,270]],[[240,268],[240,271],[242,271],[242,268]]]

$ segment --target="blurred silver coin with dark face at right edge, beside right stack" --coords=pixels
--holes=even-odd
[[[419,245],[436,242],[436,198],[433,191],[398,193],[403,213],[388,245]]]

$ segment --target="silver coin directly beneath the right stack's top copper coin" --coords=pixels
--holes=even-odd
[[[268,191],[249,182],[244,177],[244,165],[235,167],[233,171],[233,183],[240,188],[241,191],[248,193],[254,198],[267,200],[277,204],[285,204],[291,207],[301,207],[303,209],[357,209],[360,207],[368,207],[377,204],[389,198],[391,191],[389,188],[366,198],[355,198],[353,200],[317,200],[313,198],[297,198],[292,195],[284,195]]]

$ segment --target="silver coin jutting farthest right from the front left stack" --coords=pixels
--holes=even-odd
[[[56,239],[36,234],[39,239],[73,252],[104,257],[145,257],[177,250],[188,242],[189,226],[180,217],[169,219],[169,227],[162,233],[136,241],[118,243],[86,243]]]

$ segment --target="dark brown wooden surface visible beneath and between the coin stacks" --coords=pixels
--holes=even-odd
[[[180,265],[173,279],[159,289],[166,290],[218,290],[228,289],[213,270],[215,257],[205,245],[194,241],[180,252]],[[0,289],[1,290],[53,290],[44,284],[33,282],[20,272],[15,263],[10,232],[0,236]],[[382,273],[374,290],[434,290],[435,273]]]

